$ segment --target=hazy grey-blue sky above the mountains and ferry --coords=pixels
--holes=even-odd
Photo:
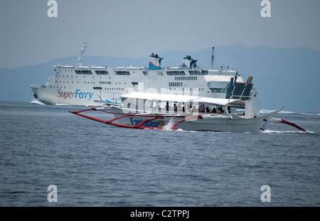
[[[270,0],[0,1],[0,68],[46,63],[78,54],[142,58],[151,52],[193,51],[241,43],[320,51],[320,1]]]

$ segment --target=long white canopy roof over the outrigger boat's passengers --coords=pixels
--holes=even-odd
[[[166,95],[166,94],[156,94],[156,93],[144,93],[144,92],[131,92],[129,94],[121,95],[122,99],[127,98],[137,98],[137,99],[149,99],[163,102],[198,102],[206,104],[215,104],[220,106],[237,105],[245,106],[245,101],[241,99],[223,99],[223,98],[213,98],[213,97],[197,97],[188,95]]]

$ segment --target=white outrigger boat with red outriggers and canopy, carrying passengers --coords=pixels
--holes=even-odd
[[[256,99],[256,93],[247,100],[146,92],[127,93],[122,95],[121,99],[121,106],[108,104],[102,108],[71,113],[97,122],[132,129],[255,132],[262,129],[262,126],[284,108],[283,105],[268,114],[260,114],[260,102]],[[208,108],[203,109],[204,107]],[[92,110],[113,114],[114,118],[104,120],[83,114]],[[284,124],[295,125],[279,120]],[[299,126],[296,127],[299,129]],[[301,127],[300,130],[305,131]]]

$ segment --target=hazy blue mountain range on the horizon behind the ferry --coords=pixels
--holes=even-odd
[[[89,45],[90,46],[90,45]],[[214,68],[228,65],[238,68],[242,78],[253,76],[261,109],[277,109],[282,104],[286,111],[320,112],[320,52],[309,48],[249,48],[245,45],[223,45],[215,47]],[[78,52],[75,52],[78,53]],[[150,51],[157,53],[156,51]],[[198,51],[172,51],[161,53],[162,67],[182,64],[182,58],[191,55],[203,68],[210,67],[212,48]],[[29,102],[33,99],[30,85],[46,85],[48,77],[54,75],[53,65],[73,65],[75,58],[57,58],[48,63],[23,68],[0,68],[0,101]],[[107,67],[145,67],[145,58],[114,58],[85,56],[85,65],[107,65]]]

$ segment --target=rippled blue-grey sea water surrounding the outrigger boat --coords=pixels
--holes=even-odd
[[[320,114],[277,114],[310,133],[218,133],[124,129],[77,109],[0,102],[0,206],[320,205]]]

